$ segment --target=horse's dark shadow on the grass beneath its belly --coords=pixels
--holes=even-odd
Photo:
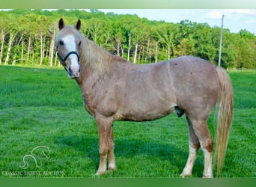
[[[98,138],[87,138],[85,136],[77,135],[64,135],[58,137],[55,143],[60,147],[73,147],[81,152],[83,158],[91,159],[95,163],[95,168],[99,165],[99,144]],[[139,139],[115,139],[115,157],[118,160],[119,156],[132,158],[135,156],[149,156],[160,159],[162,161],[168,161],[171,166],[178,168],[179,174],[182,172],[183,167],[186,164],[186,159],[189,154],[187,151],[180,150],[174,144],[159,144],[152,141],[141,141]],[[117,165],[121,163],[117,162]],[[141,163],[143,165],[143,163]],[[197,171],[193,171],[193,177],[201,177],[200,171],[204,168],[204,164],[201,160],[195,163]]]

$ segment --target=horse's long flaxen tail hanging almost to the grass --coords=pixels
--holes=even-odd
[[[228,73],[220,67],[216,67],[219,77],[218,96],[218,128],[216,129],[216,150],[213,158],[214,167],[217,165],[217,175],[220,174],[225,159],[228,145],[228,136],[231,130],[233,117],[233,88]]]

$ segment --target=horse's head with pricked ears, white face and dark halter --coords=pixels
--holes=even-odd
[[[70,78],[78,78],[81,73],[79,64],[79,46],[82,42],[79,34],[80,27],[80,19],[75,27],[65,26],[62,18],[58,22],[60,31],[56,37],[57,55]]]

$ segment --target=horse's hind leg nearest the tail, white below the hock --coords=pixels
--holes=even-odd
[[[211,178],[213,177],[213,139],[207,128],[207,120],[192,120],[191,118],[189,120],[204,152],[203,177]]]

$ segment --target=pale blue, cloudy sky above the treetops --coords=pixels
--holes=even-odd
[[[256,9],[98,9],[104,13],[136,14],[150,20],[180,22],[189,19],[192,22],[208,23],[210,26],[223,25],[231,32],[238,33],[246,29],[256,36]],[[89,11],[89,10],[88,10]]]

